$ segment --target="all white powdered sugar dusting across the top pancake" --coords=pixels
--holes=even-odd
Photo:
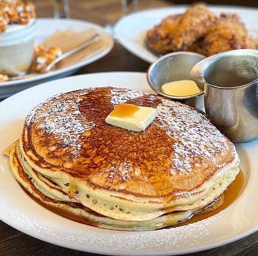
[[[26,118],[26,124],[37,121],[35,122],[35,125],[38,125],[36,129],[40,129],[46,134],[57,134],[57,143],[64,147],[69,146],[72,148],[74,156],[79,156],[82,134],[95,126],[96,129],[99,128],[97,121],[95,121],[95,125],[90,120],[95,120],[94,117],[88,115],[87,112],[85,112],[86,114],[80,112],[80,101],[85,99],[83,95],[92,95],[96,90],[99,98],[102,99],[104,96],[103,98],[107,99],[107,102],[103,101],[102,104],[107,104],[109,107],[109,100],[113,106],[134,100],[133,104],[145,104],[156,108],[157,117],[154,124],[157,130],[160,132],[159,128],[163,129],[172,138],[172,142],[168,145],[172,147],[172,150],[169,148],[167,154],[167,158],[171,159],[171,174],[175,172],[188,174],[192,170],[198,169],[198,165],[207,160],[215,163],[219,168],[226,164],[218,163],[217,159],[223,152],[228,152],[228,140],[199,110],[178,102],[160,100],[147,92],[122,88],[110,88],[109,90],[109,88],[103,90],[105,95],[98,88],[88,88],[54,96],[37,106]],[[89,96],[92,102],[97,101],[98,97],[91,98]],[[93,113],[95,109],[98,110],[98,105],[92,109]],[[236,152],[235,154],[237,155]]]

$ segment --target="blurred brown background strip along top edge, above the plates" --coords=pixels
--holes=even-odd
[[[135,10],[164,7],[173,4],[191,4],[191,0],[33,0],[38,17],[57,17],[66,14],[100,25],[116,22],[121,16]],[[199,1],[200,2],[200,1]],[[233,4],[258,7],[258,0],[206,0],[208,4]],[[51,9],[50,6],[53,6]]]

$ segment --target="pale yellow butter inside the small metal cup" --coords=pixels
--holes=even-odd
[[[192,80],[179,80],[165,83],[161,86],[161,91],[172,96],[194,95],[202,90]]]

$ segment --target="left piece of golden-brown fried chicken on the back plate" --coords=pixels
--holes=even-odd
[[[206,35],[207,27],[217,16],[204,4],[195,4],[184,14],[169,16],[147,32],[148,46],[157,53],[188,50]]]

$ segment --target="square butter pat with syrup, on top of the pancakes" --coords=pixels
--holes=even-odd
[[[141,131],[145,130],[155,119],[156,109],[123,103],[117,105],[106,117],[105,122],[120,128]]]

